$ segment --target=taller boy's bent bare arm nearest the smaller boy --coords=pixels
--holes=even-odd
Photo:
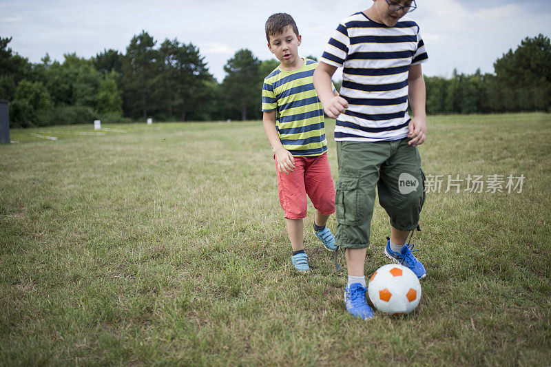
[[[335,70],[337,70],[337,67],[322,61],[318,63],[313,76],[315,92],[318,93],[318,98],[320,98],[325,114],[331,118],[337,118],[349,107],[346,99],[338,94],[333,94],[331,76],[335,74]]]

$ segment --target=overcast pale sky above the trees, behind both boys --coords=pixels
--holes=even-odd
[[[196,45],[209,71],[222,81],[233,53],[248,48],[271,59],[264,23],[288,12],[302,34],[301,56],[319,56],[338,22],[365,10],[372,0],[194,0],[79,1],[0,0],[0,36],[12,36],[14,52],[40,62],[48,52],[63,61],[76,52],[90,58],[104,49],[125,53],[130,39],[146,30],[157,41],[177,38]],[[493,72],[494,61],[527,36],[551,35],[551,0],[417,0],[408,14],[421,27],[429,60],[424,74],[449,77],[454,68]]]

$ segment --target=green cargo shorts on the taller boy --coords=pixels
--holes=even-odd
[[[335,244],[362,249],[369,245],[375,187],[380,205],[399,231],[412,231],[425,202],[425,175],[417,147],[408,139],[381,142],[337,141],[339,178]]]

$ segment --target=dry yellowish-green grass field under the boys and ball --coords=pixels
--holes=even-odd
[[[428,118],[424,171],[444,182],[414,238],[422,301],[371,322],[344,310],[311,215],[313,270],[291,271],[260,122],[109,127],[125,132],[12,129],[0,147],[0,365],[551,364],[550,114]],[[376,205],[366,274],[388,233]]]

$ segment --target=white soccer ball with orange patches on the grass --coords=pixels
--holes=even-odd
[[[408,314],[421,301],[421,283],[406,266],[388,264],[373,273],[367,293],[377,310],[391,315]]]

